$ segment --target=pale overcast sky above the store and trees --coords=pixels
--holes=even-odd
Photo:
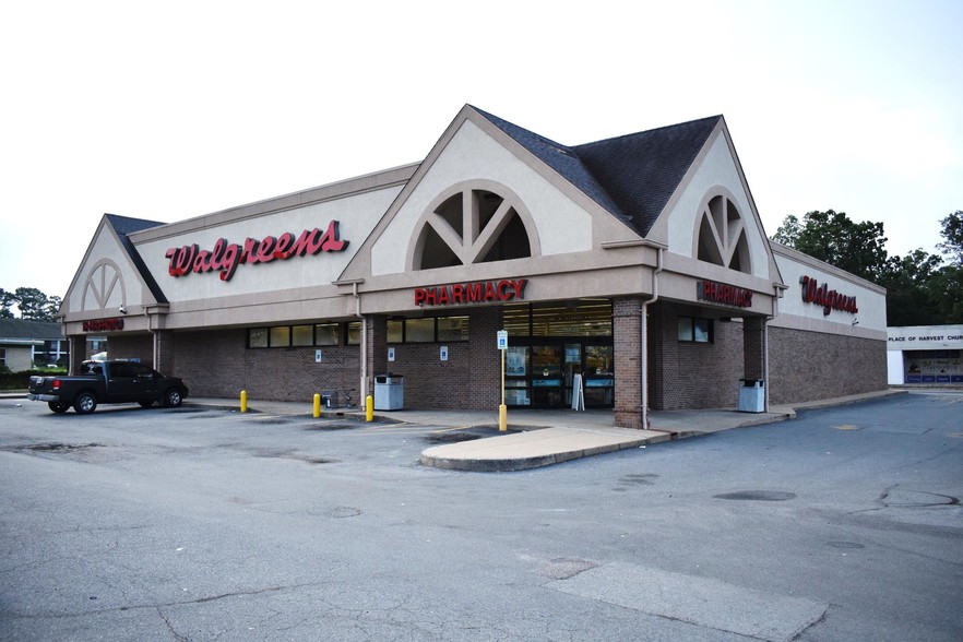
[[[772,236],[963,210],[959,0],[52,0],[0,8],[0,288],[105,213],[171,223],[421,160],[465,104],[566,145],[725,116]]]

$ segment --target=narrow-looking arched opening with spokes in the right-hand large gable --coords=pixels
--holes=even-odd
[[[726,197],[709,200],[698,218],[696,257],[738,272],[752,272],[742,216]]]

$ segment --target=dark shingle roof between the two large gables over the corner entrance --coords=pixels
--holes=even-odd
[[[474,108],[614,216],[645,236],[722,116],[569,147]]]

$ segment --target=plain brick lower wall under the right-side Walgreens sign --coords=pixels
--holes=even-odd
[[[887,389],[887,343],[769,329],[769,401],[813,401]]]

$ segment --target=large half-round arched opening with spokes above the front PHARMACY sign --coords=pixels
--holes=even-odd
[[[413,270],[524,259],[538,253],[531,216],[500,186],[456,186],[421,217],[412,252]]]

